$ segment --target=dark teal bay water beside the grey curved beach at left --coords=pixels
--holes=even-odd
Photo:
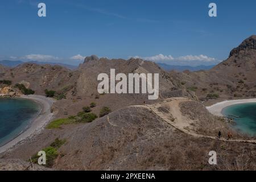
[[[36,102],[21,98],[0,98],[0,146],[26,130],[39,114]]]

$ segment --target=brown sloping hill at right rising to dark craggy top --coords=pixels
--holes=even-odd
[[[229,58],[209,71],[172,72],[202,100],[207,96],[222,98],[256,97],[256,36],[234,48]]]

